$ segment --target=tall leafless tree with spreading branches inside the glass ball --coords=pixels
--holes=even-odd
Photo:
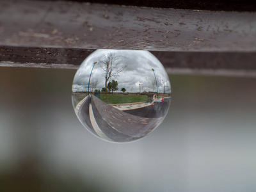
[[[99,58],[100,67],[104,70],[105,88],[107,90],[108,81],[111,77],[118,77],[127,65],[122,62],[122,56],[116,56],[115,52]],[[106,92],[106,100],[108,100],[108,92]]]

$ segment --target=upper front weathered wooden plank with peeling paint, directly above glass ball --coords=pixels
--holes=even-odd
[[[0,45],[252,52],[256,13],[2,0]]]

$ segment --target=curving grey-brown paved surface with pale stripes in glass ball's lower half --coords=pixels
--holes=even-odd
[[[145,105],[145,108],[154,109],[151,104]],[[131,111],[134,113],[136,109],[143,111],[141,105],[137,105],[137,108]],[[76,106],[76,111],[81,122],[86,124],[93,134],[104,140],[116,142],[137,140],[152,132],[163,121],[163,116],[147,118],[121,111],[94,95],[81,100]]]

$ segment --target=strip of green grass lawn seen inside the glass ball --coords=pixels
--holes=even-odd
[[[100,94],[100,99],[106,102],[106,95]],[[131,103],[131,102],[143,102],[147,101],[147,95],[111,95],[108,94],[108,104],[120,104],[120,103]]]

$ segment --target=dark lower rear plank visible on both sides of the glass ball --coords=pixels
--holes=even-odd
[[[0,47],[0,66],[76,69],[92,49]],[[169,73],[256,76],[256,52],[152,51]]]

